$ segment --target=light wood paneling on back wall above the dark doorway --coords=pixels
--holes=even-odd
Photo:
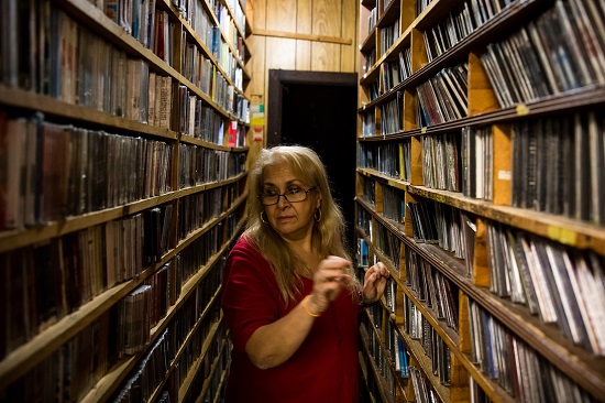
[[[273,36],[249,37],[252,54],[249,62],[252,81],[250,95],[262,95],[265,118],[267,74],[272,68],[358,73],[358,1],[356,0],[254,0],[252,29],[296,34],[333,36],[351,44],[326,43],[318,40]]]

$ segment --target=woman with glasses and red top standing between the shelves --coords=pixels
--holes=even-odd
[[[356,402],[363,287],[342,243],[344,220],[310,149],[262,150],[250,172],[248,226],[229,254],[222,309],[233,342],[227,402]]]

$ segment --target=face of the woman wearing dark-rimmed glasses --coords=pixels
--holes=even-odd
[[[263,173],[262,193],[283,195],[292,189],[308,190],[315,184],[299,181],[287,165],[267,166]],[[302,202],[290,203],[284,196],[277,204],[264,206],[270,225],[285,239],[298,240],[311,235],[316,208],[320,207],[318,190],[309,192]]]

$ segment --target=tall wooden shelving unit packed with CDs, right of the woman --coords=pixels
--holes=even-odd
[[[372,308],[383,319],[369,311],[360,330],[376,401],[605,400],[592,291],[605,281],[601,7],[361,1],[358,260],[384,262],[395,280]],[[398,37],[382,45],[396,21]],[[571,70],[550,61],[554,45]],[[539,96],[522,87],[540,85]],[[518,99],[503,105],[504,91]],[[410,371],[387,381],[371,369],[396,374],[398,363],[372,353],[367,333],[389,351],[389,326]]]

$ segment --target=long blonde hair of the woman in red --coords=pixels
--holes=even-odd
[[[295,268],[304,269],[304,263],[297,258],[288,243],[271,225],[263,222],[261,214],[264,206],[258,200],[263,192],[263,174],[267,166],[286,165],[301,182],[318,187],[321,195],[320,211],[316,211],[316,221],[311,235],[311,246],[321,259],[338,255],[348,260],[351,257],[343,244],[345,224],[344,217],[332,198],[326,167],[319,155],[311,149],[301,145],[276,145],[261,150],[253,167],[250,170],[248,222],[243,233],[268,261],[285,303],[300,294],[302,282]],[[317,220],[319,217],[319,220]],[[351,291],[356,296],[361,285],[355,280],[352,268],[345,270],[353,277]]]

